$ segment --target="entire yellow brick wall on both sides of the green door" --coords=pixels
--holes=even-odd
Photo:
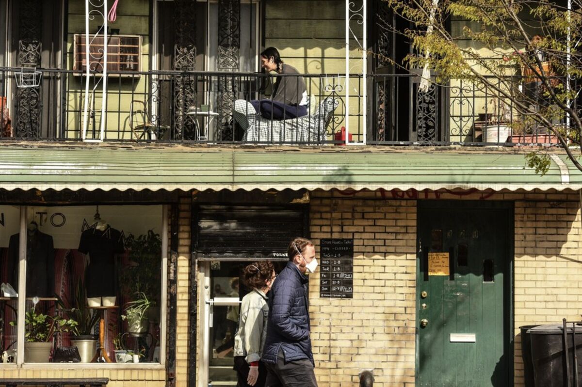
[[[416,200],[510,200],[515,205],[514,382],[523,386],[522,325],[580,320],[579,195],[566,192],[311,193],[311,236],[354,238],[354,299],[320,299],[310,280],[312,341],[320,387],[414,385]],[[402,200],[398,200],[402,198]],[[404,235],[407,234],[407,235]],[[373,305],[373,306],[372,306]]]

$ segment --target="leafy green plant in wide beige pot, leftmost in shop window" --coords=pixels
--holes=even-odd
[[[36,311],[36,306],[24,314],[24,362],[48,363],[51,356],[52,338],[56,332],[70,332],[77,322]],[[14,321],[10,325],[15,326]]]

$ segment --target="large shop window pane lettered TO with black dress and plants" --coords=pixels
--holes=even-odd
[[[162,206],[27,207],[26,240],[25,363],[159,363]]]

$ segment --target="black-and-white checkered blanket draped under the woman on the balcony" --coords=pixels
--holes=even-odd
[[[328,97],[313,114],[296,119],[269,120],[255,112],[249,102],[238,99],[233,117],[243,128],[243,141],[246,142],[322,144],[330,135],[327,126],[338,105],[338,99]]]

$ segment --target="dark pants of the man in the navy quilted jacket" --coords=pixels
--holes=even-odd
[[[285,363],[285,355],[279,350],[276,364],[267,366],[265,387],[317,387],[313,364],[308,359]]]

